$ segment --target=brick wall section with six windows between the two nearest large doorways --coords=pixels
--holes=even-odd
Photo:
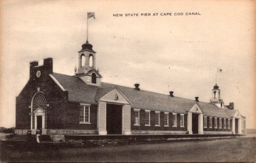
[[[134,126],[134,110],[131,109],[131,130],[187,131],[187,115],[184,115],[184,127],[180,127],[180,114],[176,116],[177,127],[172,127],[172,113],[169,113],[169,127],[164,127],[164,112],[160,112],[160,126],[155,126],[155,111],[150,112],[150,126],[145,126],[145,110],[140,110],[140,126]]]

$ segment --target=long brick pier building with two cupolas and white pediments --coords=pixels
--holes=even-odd
[[[16,98],[16,133],[241,134],[245,117],[224,105],[216,84],[209,103],[101,82],[96,52],[86,41],[76,75],[54,73],[53,59],[30,62],[30,77]]]

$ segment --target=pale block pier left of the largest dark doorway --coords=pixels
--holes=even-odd
[[[107,103],[103,101],[98,102],[97,107],[97,130],[99,135],[107,135],[106,129]]]

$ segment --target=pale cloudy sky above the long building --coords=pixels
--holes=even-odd
[[[102,82],[139,83],[142,90],[209,102],[218,67],[224,105],[234,102],[246,128],[256,128],[254,2],[3,0],[0,126],[15,126],[15,98],[28,82],[29,62],[42,65],[52,57],[54,72],[74,75],[87,12],[95,12],[88,19],[88,41]]]

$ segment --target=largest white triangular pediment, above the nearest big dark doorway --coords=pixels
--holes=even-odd
[[[113,102],[113,103],[121,103],[121,104],[129,104],[132,102],[122,93],[122,91],[115,87],[108,93],[104,93],[104,95],[97,101],[105,101],[105,102]]]

